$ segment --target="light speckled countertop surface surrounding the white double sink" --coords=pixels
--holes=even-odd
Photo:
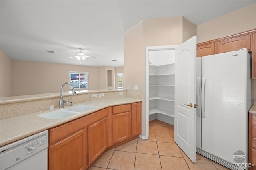
[[[96,111],[99,111],[109,106],[135,103],[139,101],[142,101],[142,100],[131,98],[131,97],[115,97],[110,99],[98,99],[98,100],[91,100],[91,101],[86,101],[82,103],[76,103],[76,104],[73,104],[73,106],[80,105],[80,104],[88,104],[88,105],[98,105],[99,107],[97,107],[96,109],[90,109],[90,110],[87,110],[63,119],[52,120],[52,119],[38,117],[38,115],[49,112],[49,110],[11,117],[7,119],[2,119],[0,120],[0,146],[9,144],[16,140],[25,138],[32,134],[36,134],[43,130],[50,129],[52,127],[61,125],[63,123],[72,121],[74,119],[78,119],[80,117],[83,117],[90,113],[94,113]],[[59,108],[56,108],[53,111],[58,109]]]

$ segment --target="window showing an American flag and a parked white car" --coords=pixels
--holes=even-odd
[[[76,89],[88,89],[88,72],[69,72],[69,81]],[[70,87],[71,89],[71,87]]]

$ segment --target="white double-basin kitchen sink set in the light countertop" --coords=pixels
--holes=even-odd
[[[75,115],[77,113],[94,109],[96,107],[98,106],[82,104],[82,105],[72,106],[72,107],[68,107],[68,108],[64,108],[56,111],[50,111],[47,113],[40,114],[38,116],[44,117],[46,119],[62,119],[64,117]]]

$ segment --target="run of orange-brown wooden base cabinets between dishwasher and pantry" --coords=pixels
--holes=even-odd
[[[48,170],[85,170],[141,132],[141,102],[108,107],[49,129]]]

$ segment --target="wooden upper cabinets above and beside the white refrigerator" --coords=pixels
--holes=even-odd
[[[196,57],[247,48],[252,52],[252,79],[256,79],[256,29],[197,44]]]

